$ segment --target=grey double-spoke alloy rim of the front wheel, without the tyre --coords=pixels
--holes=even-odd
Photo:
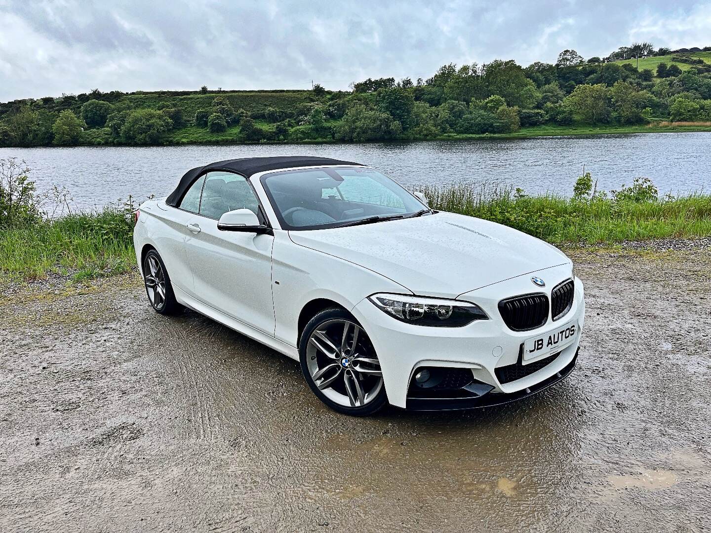
[[[306,356],[316,387],[339,405],[363,407],[383,388],[383,372],[373,344],[352,321],[321,323],[309,337]]]

